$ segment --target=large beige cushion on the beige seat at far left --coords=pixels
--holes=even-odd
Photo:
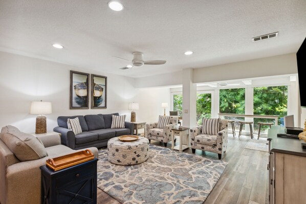
[[[2,128],[1,140],[21,162],[47,156],[47,151],[41,141],[34,135],[21,132],[12,125]]]

